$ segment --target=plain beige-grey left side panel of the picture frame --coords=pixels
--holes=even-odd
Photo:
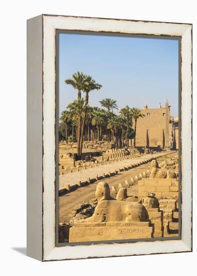
[[[43,17],[27,21],[27,255],[43,259]]]

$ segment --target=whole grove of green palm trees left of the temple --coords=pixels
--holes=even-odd
[[[77,155],[80,159],[83,141],[113,141],[118,147],[129,146],[129,139],[134,138],[137,119],[144,115],[138,108],[126,105],[116,115],[113,109],[118,109],[116,100],[106,98],[100,101],[103,108],[89,105],[89,93],[101,89],[102,85],[82,72],[73,74],[72,79],[65,80],[77,90],[77,99],[69,103],[67,109],[61,113],[60,132],[66,140],[77,141]],[[85,99],[81,96],[85,93]],[[134,129],[132,124],[134,124]]]

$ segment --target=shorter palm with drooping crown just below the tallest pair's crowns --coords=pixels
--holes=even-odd
[[[77,155],[78,159],[80,159],[80,132],[81,132],[81,119],[84,114],[85,103],[83,98],[79,98],[74,100],[72,103],[69,103],[68,109],[70,109],[73,114],[76,114],[78,117],[77,122]]]

